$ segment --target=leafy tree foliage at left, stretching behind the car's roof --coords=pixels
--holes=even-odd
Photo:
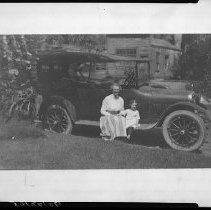
[[[12,87],[14,77],[11,78],[8,73],[18,70],[19,76],[15,79],[17,85],[29,79],[28,66],[31,64],[36,70],[38,49],[75,45],[88,51],[101,51],[104,44],[105,35],[0,35],[0,111],[6,113],[7,104],[10,103],[11,96],[7,92]],[[13,89],[16,88],[13,86]]]

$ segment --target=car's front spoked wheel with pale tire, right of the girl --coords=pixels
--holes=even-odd
[[[206,126],[202,118],[191,111],[174,111],[164,120],[163,137],[173,149],[194,151],[204,143]]]

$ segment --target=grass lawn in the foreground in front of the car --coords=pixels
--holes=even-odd
[[[131,143],[107,142],[92,128],[79,128],[74,135],[67,136],[31,127],[27,122],[11,122],[0,129],[0,169],[211,167],[211,157],[203,154],[143,146],[146,139],[160,141],[156,133],[136,138],[139,139]]]

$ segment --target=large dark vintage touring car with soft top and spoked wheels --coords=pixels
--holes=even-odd
[[[166,143],[183,151],[199,149],[207,138],[209,99],[188,90],[186,82],[141,81],[138,65],[148,65],[147,60],[68,49],[40,51],[38,55],[44,96],[40,114],[52,131],[68,134],[77,123],[99,122],[102,100],[118,80],[125,108],[134,98],[139,104],[140,129],[146,124],[146,129],[161,127]],[[112,74],[120,71],[112,71],[115,64],[106,70],[107,64],[124,66],[128,62],[134,68],[125,77]]]

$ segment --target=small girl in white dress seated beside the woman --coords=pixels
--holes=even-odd
[[[127,139],[130,139],[132,132],[139,126],[140,115],[137,110],[137,102],[135,99],[130,101],[130,109],[121,112],[126,118]]]

